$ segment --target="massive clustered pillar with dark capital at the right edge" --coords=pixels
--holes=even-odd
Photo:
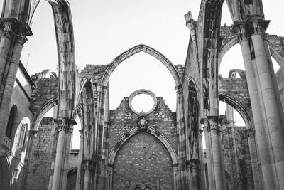
[[[239,34],[246,68],[263,189],[284,189],[284,137],[280,119],[283,112],[279,111],[271,76],[274,73],[263,44],[268,21],[262,19],[251,16],[246,22],[236,21],[234,31]]]

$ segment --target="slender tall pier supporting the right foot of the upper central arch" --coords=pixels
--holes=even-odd
[[[186,146],[185,146],[185,125],[182,111],[182,86],[175,87],[177,92],[177,131],[178,131],[178,162],[179,162],[179,188],[187,188],[187,168],[186,168]]]

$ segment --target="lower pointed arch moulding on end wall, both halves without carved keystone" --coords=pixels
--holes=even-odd
[[[114,144],[114,147],[111,149],[111,152],[109,153],[109,160],[108,164],[113,165],[114,159],[116,158],[116,154],[119,152],[119,149],[123,146],[123,144],[130,139],[134,134],[137,134],[140,132],[139,127],[134,127],[125,134],[123,134]],[[160,142],[163,143],[165,148],[168,150],[170,157],[172,159],[173,165],[178,164],[178,156],[175,153],[175,149],[173,149],[172,144],[166,139],[166,137],[163,136],[163,134],[160,134],[157,130],[155,130],[153,127],[148,127],[147,132],[149,134],[152,134],[154,137],[160,140]]]

